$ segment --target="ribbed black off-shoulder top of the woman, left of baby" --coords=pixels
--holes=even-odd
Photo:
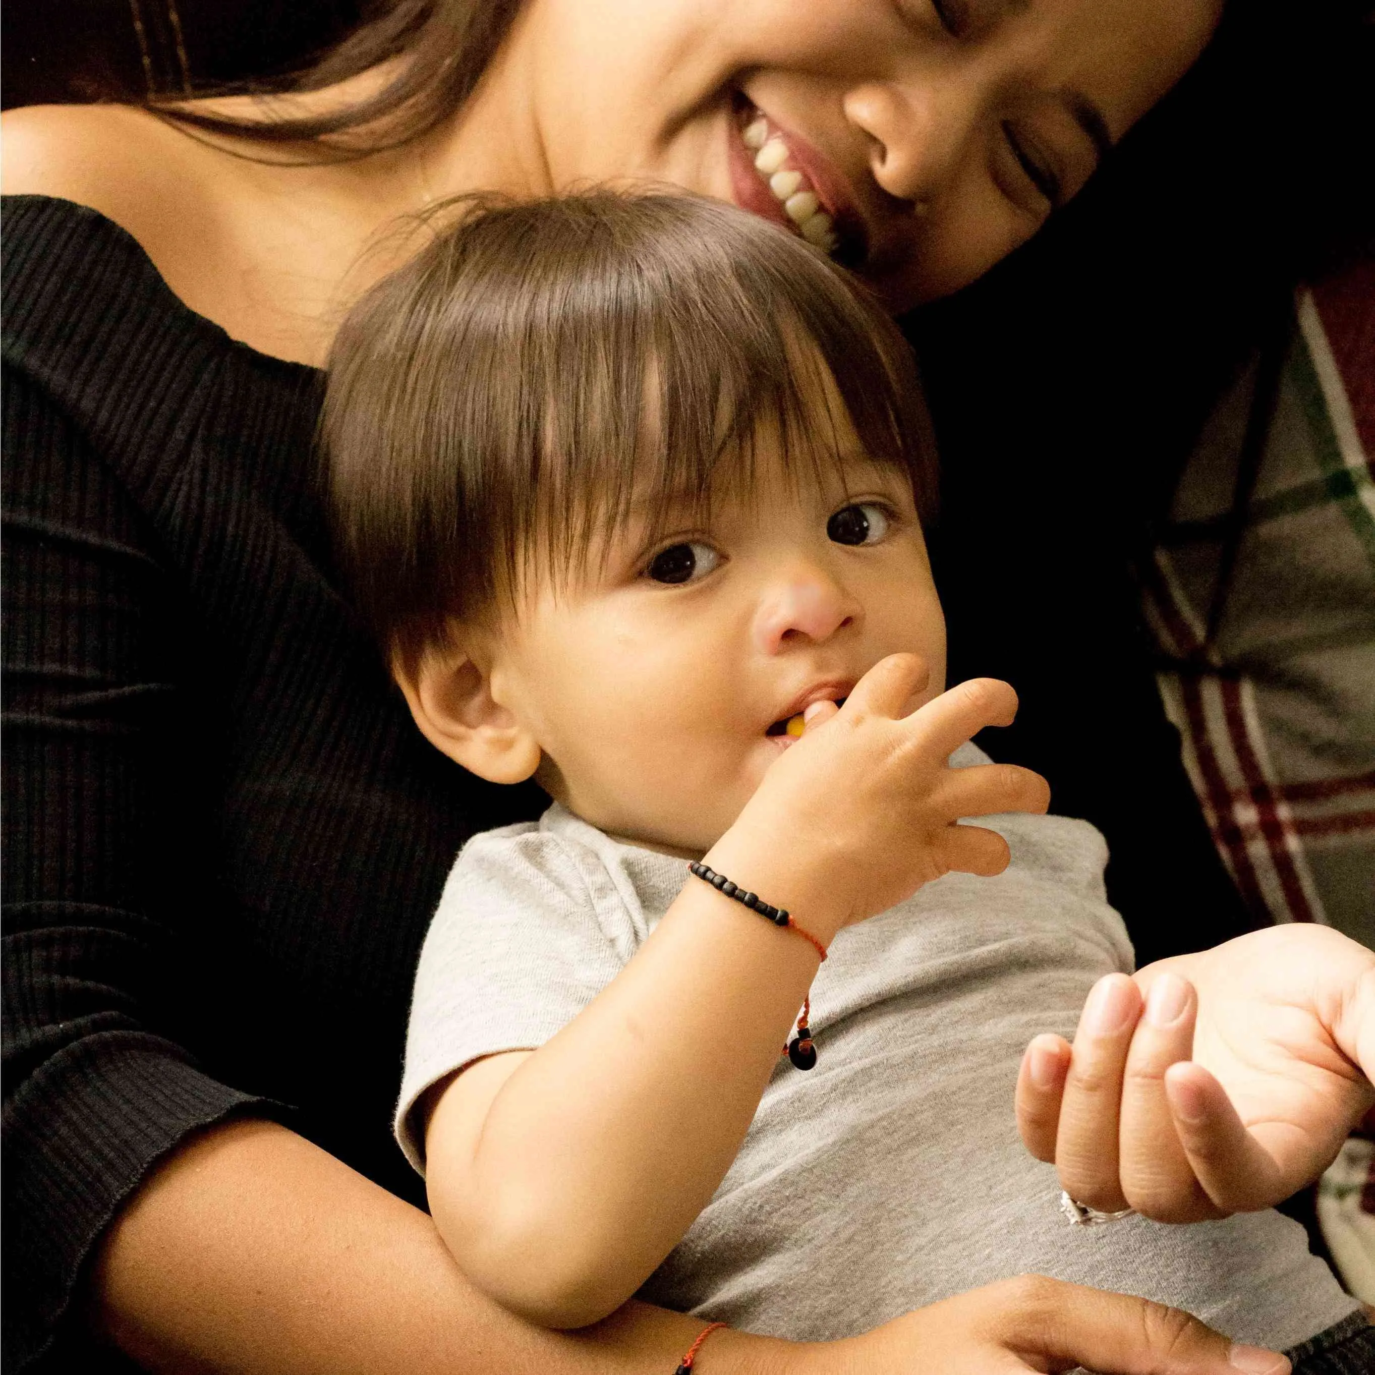
[[[188,1133],[289,1121],[403,1196],[417,954],[477,829],[536,814],[418,736],[331,580],[320,374],[139,245],[6,201],[6,1361]]]

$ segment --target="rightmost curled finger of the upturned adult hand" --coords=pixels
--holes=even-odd
[[[1192,1060],[1165,1075],[1174,1130],[1189,1169],[1220,1217],[1269,1207],[1305,1178],[1286,1178],[1273,1156],[1247,1132],[1221,1084]]]

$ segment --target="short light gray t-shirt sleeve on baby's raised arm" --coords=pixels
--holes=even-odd
[[[425,938],[396,1108],[406,1158],[425,1170],[419,1096],[487,1055],[543,1045],[615,979],[637,945],[590,850],[524,822],[474,836]]]

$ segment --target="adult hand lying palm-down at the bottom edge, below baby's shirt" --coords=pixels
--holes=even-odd
[[[1275,1352],[1239,1346],[1178,1309],[1037,1275],[1002,1280],[815,1349],[798,1375],[1287,1375]],[[793,1370],[792,1365],[788,1367]]]

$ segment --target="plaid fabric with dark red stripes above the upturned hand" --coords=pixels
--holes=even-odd
[[[1187,463],[1143,601],[1243,898],[1375,946],[1375,263],[1294,307]]]

